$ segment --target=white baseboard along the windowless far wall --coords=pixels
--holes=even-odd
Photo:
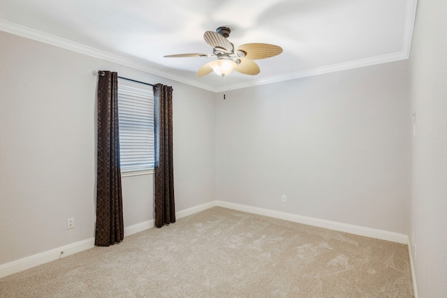
[[[290,214],[286,212],[274,211],[270,209],[263,209],[258,207],[251,207],[242,204],[216,201],[216,205],[219,207],[225,207],[228,209],[235,209],[238,211],[249,212],[253,214],[259,214],[263,216],[269,216],[273,218],[284,219],[286,221],[293,221],[295,223],[304,223],[305,225],[314,225],[319,228],[325,228],[330,230],[336,230],[339,232],[346,232],[350,234],[357,234],[360,236],[371,237],[376,239],[382,239],[387,241],[393,241],[397,243],[407,244],[408,236],[405,234],[399,234],[395,232],[388,232],[383,230],[376,230],[372,228],[360,227],[358,225],[349,225],[347,223],[337,223],[335,221],[326,221],[325,219],[312,218],[307,216],[300,216],[297,214]]]

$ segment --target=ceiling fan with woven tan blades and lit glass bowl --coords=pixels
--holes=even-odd
[[[213,54],[174,54],[164,57],[217,57],[217,60],[199,68],[198,77],[203,77],[213,70],[221,76],[228,75],[233,70],[245,75],[257,75],[261,70],[253,60],[274,57],[282,52],[281,47],[268,43],[246,43],[235,50],[233,43],[226,39],[230,32],[227,27],[219,27],[216,32],[206,31],[203,34],[208,45],[213,47]]]

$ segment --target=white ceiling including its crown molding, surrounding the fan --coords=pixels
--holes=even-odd
[[[256,60],[261,73],[233,71],[226,89],[290,80],[409,56],[417,0],[2,0],[0,30],[66,47],[211,91],[205,31],[226,26],[231,43],[271,43],[284,52]]]

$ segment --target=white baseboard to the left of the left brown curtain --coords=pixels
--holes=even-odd
[[[0,278],[25,269],[29,269],[31,267],[36,267],[38,265],[57,260],[59,258],[64,258],[67,255],[73,255],[73,253],[85,251],[86,249],[94,247],[94,243],[95,239],[90,238],[0,265]],[[64,253],[61,253],[62,251]]]

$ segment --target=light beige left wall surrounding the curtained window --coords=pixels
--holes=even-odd
[[[176,210],[214,200],[213,93],[2,31],[0,40],[0,265],[94,237],[93,70],[173,86]],[[152,219],[152,176],[122,184],[124,225]]]

